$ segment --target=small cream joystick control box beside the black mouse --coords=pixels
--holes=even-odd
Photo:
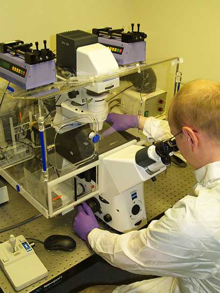
[[[10,235],[8,241],[0,244],[0,266],[16,291],[48,275],[47,269],[23,235]]]

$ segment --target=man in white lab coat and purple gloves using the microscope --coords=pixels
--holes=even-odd
[[[126,117],[127,116],[127,117]],[[115,267],[161,276],[122,286],[94,286],[85,293],[220,292],[220,84],[197,80],[174,97],[168,121],[110,114],[108,133],[143,129],[155,141],[176,136],[183,157],[196,168],[197,184],[147,229],[122,235],[98,229],[93,212],[78,208],[74,230]]]

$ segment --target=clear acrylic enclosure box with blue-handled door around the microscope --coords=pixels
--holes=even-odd
[[[109,112],[166,119],[177,71],[178,58],[170,58],[90,77],[57,68],[56,83],[27,91],[0,79],[0,175],[47,218],[100,195],[100,154],[146,140],[136,129],[103,138],[110,125],[99,130],[95,114],[76,110],[74,94],[119,77],[120,86],[106,98]],[[75,107],[74,117],[67,102]]]

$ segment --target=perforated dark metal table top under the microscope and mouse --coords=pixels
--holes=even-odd
[[[166,209],[171,208],[179,199],[183,198],[195,183],[194,168],[178,167],[171,164],[166,172],[156,176],[156,181],[148,180],[144,183],[145,206],[148,222],[160,217]],[[39,212],[27,202],[20,193],[7,184],[9,201],[0,205],[0,229],[22,222]],[[64,216],[45,219],[39,217],[21,227],[0,233],[0,242],[9,239],[10,234],[23,235],[29,243],[34,242],[34,251],[48,270],[48,276],[22,290],[20,293],[47,292],[74,274],[83,271],[100,258],[88,248],[85,241],[77,237],[73,231],[73,219],[76,210]],[[108,229],[99,222],[101,229]],[[44,244],[30,238],[44,241],[49,235],[63,234],[71,236],[76,241],[74,251],[49,251]],[[15,293],[3,270],[0,270],[0,292]]]

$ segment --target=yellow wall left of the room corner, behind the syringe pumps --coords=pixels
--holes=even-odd
[[[93,27],[125,26],[129,30],[132,0],[10,0],[0,4],[0,42],[47,40],[56,47],[56,33],[69,30],[91,32]],[[106,4],[105,4],[106,3]],[[109,4],[110,3],[110,4]],[[4,13],[4,11],[6,13]],[[3,29],[4,28],[4,29]]]

